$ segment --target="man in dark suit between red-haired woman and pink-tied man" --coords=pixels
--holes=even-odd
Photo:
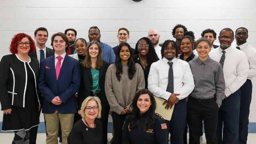
[[[40,64],[40,60],[43,60],[49,56],[54,54],[54,51],[45,46],[45,43],[48,40],[48,31],[46,28],[40,27],[35,30],[35,40],[36,40],[36,51],[33,53],[29,53],[28,55],[34,57],[38,60]],[[41,94],[40,94],[41,95]],[[41,113],[41,109],[40,109]],[[35,126],[30,129],[30,144],[36,144],[36,136],[37,136],[38,126]],[[47,135],[47,132],[46,132]]]

